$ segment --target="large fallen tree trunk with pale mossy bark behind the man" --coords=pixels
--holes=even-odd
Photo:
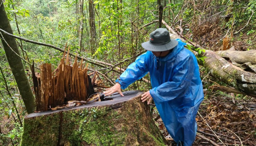
[[[162,20],[162,23],[165,24],[165,26],[170,31],[171,38],[180,38],[184,42],[187,40],[182,34],[180,34],[179,32],[175,32],[170,26],[168,26],[165,21]],[[190,41],[188,41],[187,44],[190,44],[194,47],[200,47]],[[200,48],[204,49],[203,47]],[[219,54],[220,56],[217,54]],[[208,70],[211,76],[219,79],[220,81],[226,83],[233,88],[238,89],[244,94],[256,96],[256,73],[254,71],[256,62],[255,50],[227,50],[219,51],[217,53],[211,50],[206,50],[200,55],[198,53],[196,55],[198,55],[198,57],[206,57],[204,58],[204,61],[200,61],[198,63],[200,63],[200,65],[203,65]],[[231,62],[227,61],[226,59],[230,60]],[[247,66],[245,66],[246,68],[242,69],[233,65],[232,63],[243,64]],[[250,68],[250,70],[248,68]]]

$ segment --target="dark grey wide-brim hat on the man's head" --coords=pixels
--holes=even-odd
[[[161,52],[173,49],[178,41],[171,39],[169,32],[165,28],[158,28],[150,33],[149,41],[142,43],[145,50]]]

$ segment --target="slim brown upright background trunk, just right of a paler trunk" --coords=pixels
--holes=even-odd
[[[89,26],[90,26],[90,51],[94,53],[94,40],[96,39],[96,30],[94,22],[93,0],[89,0]]]

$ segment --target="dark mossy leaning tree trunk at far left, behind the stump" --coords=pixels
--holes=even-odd
[[[2,3],[2,0],[0,0]],[[5,30],[12,34],[12,29],[7,18],[5,8],[3,4],[0,6],[0,29]],[[3,35],[3,38],[2,38]],[[8,59],[9,65],[11,67],[14,78],[17,82],[18,89],[23,98],[27,113],[33,113],[35,110],[35,98],[30,88],[29,82],[27,80],[26,73],[24,71],[24,67],[21,61],[21,58],[18,51],[18,46],[16,44],[15,38],[2,33],[0,37],[2,38],[3,47],[5,49],[6,58]],[[4,40],[3,40],[4,39]],[[16,53],[18,55],[16,55]]]

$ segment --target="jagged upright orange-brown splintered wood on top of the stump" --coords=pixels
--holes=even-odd
[[[32,67],[37,111],[47,111],[70,100],[88,99],[88,64],[85,66],[83,61],[78,63],[76,57],[74,64],[70,65],[69,59],[66,58],[66,62],[64,59],[61,59],[58,68],[53,72],[51,64],[41,65],[40,75],[36,75]]]

